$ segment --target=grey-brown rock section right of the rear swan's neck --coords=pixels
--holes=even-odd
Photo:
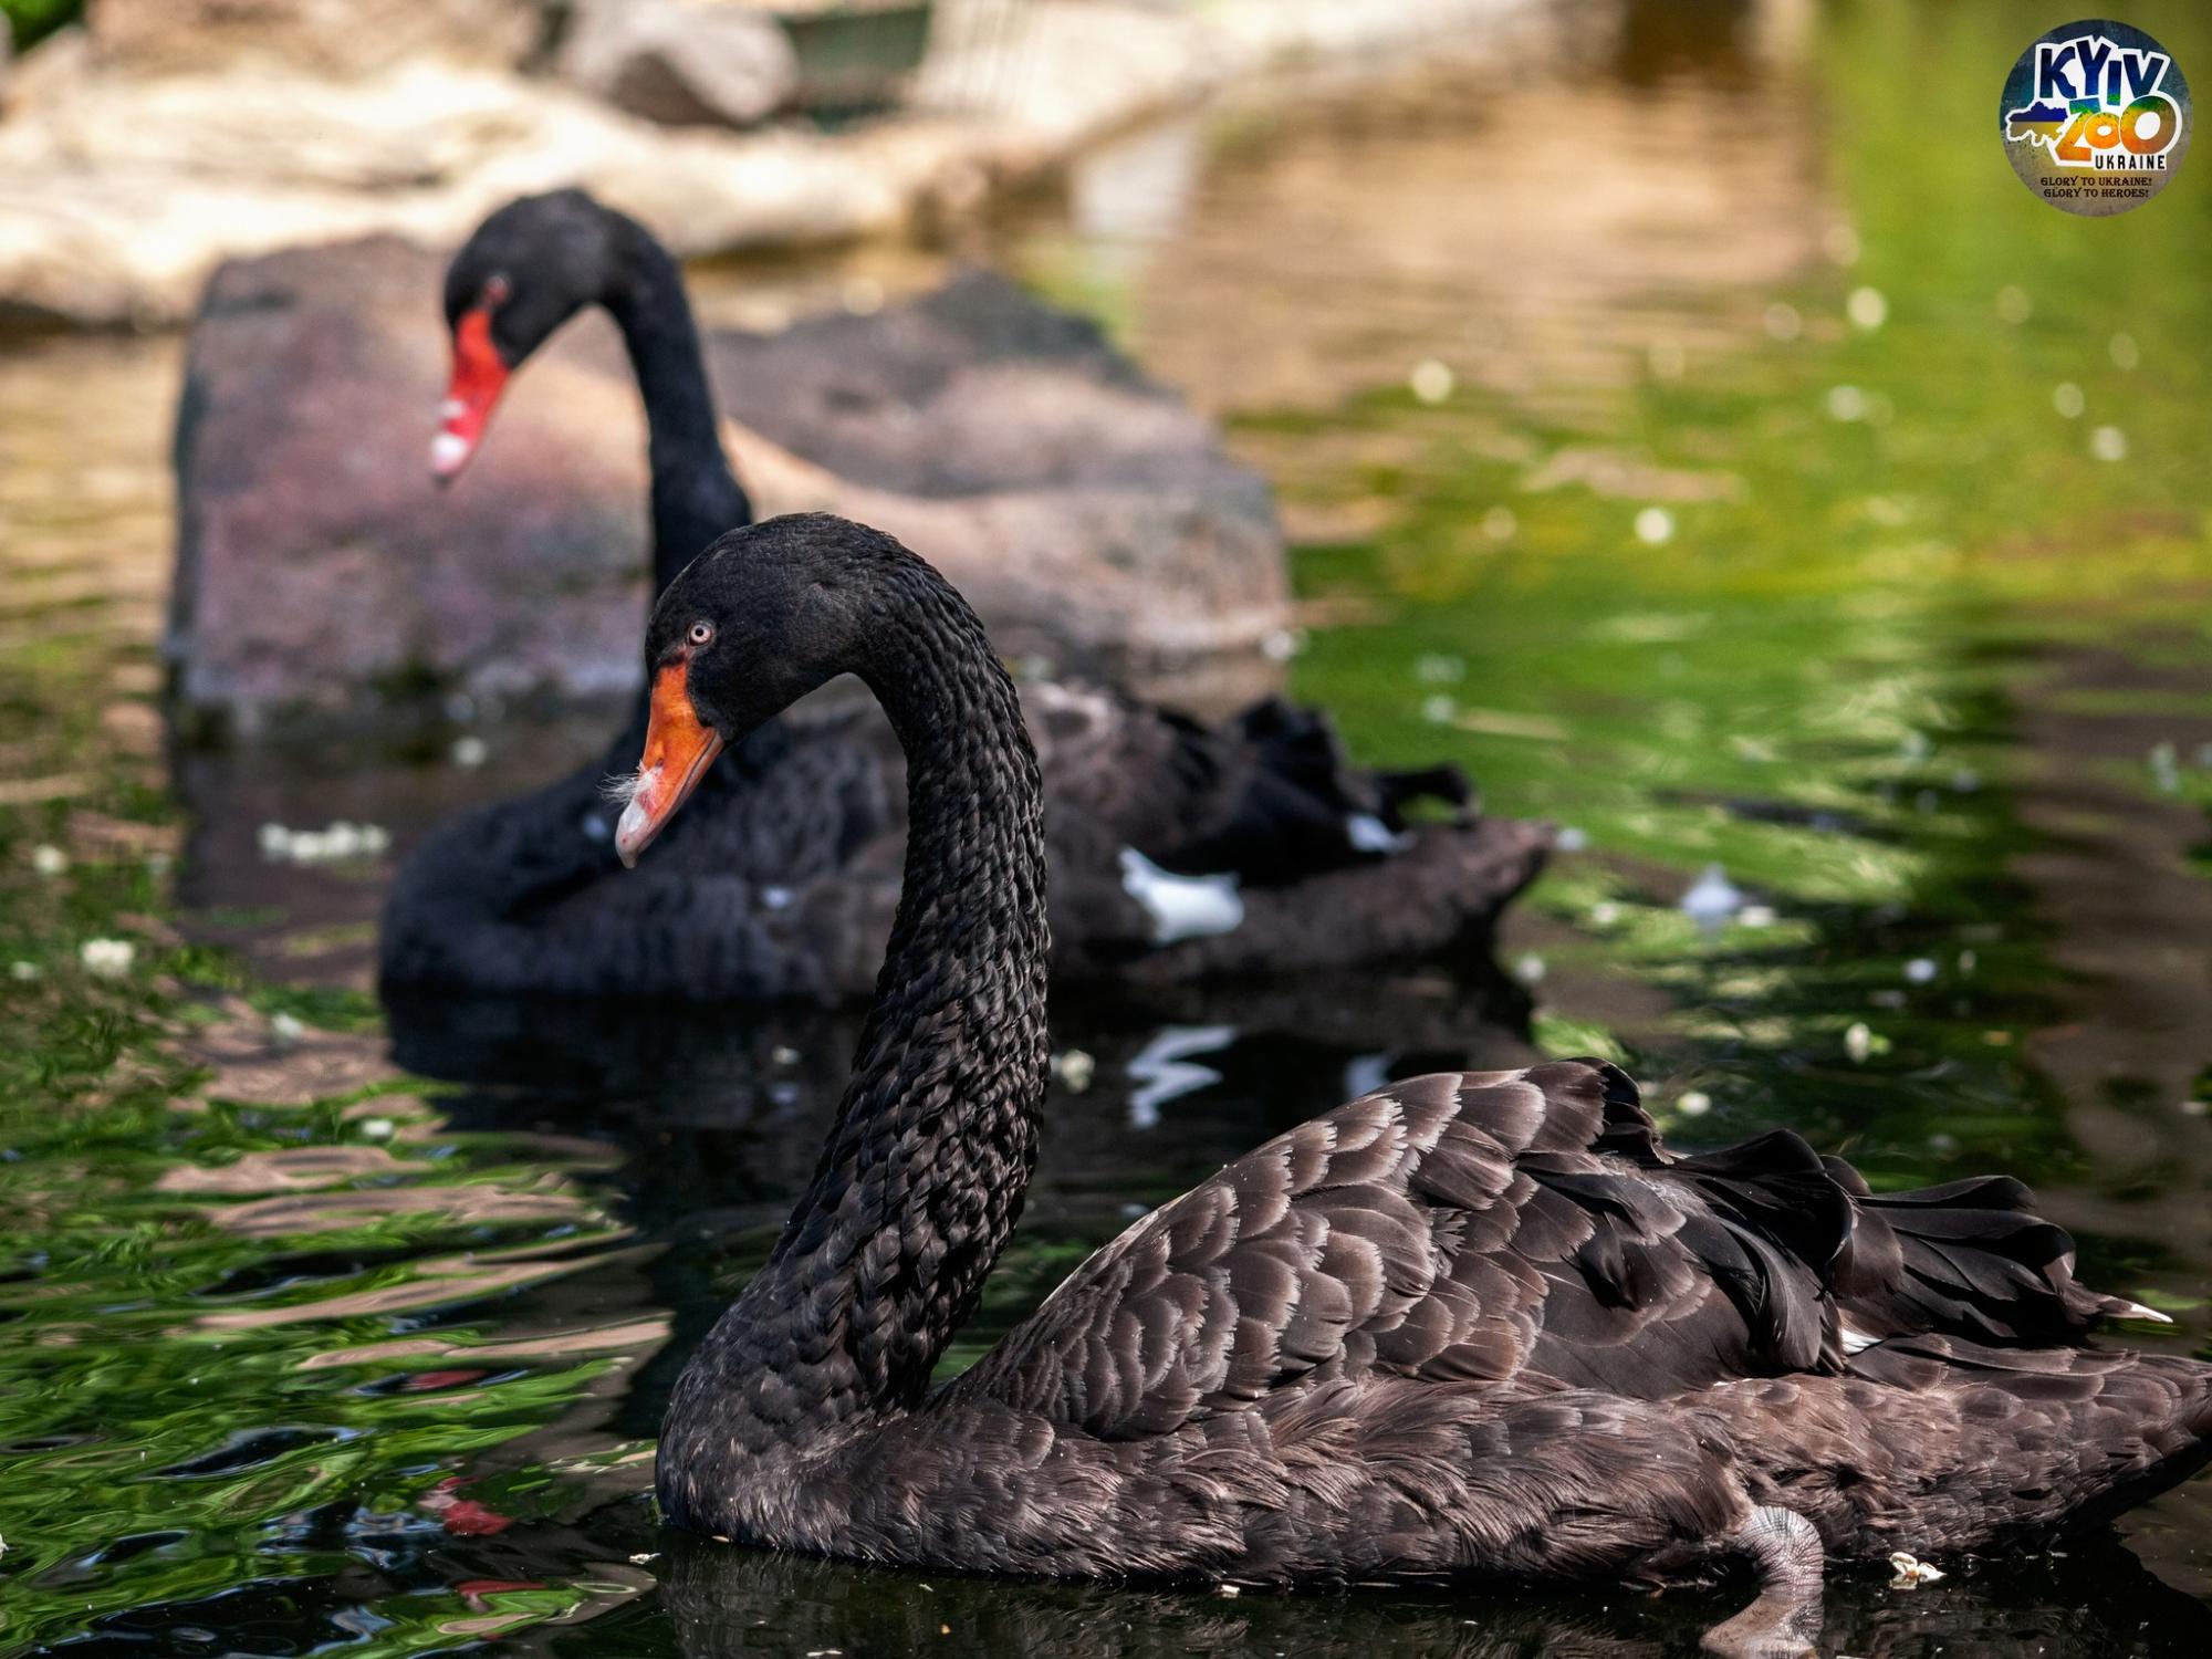
[[[714,334],[708,374],[763,515],[898,535],[1006,657],[1155,688],[1228,657],[1237,695],[1279,684],[1256,666],[1290,619],[1267,482],[1088,319],[969,272],[874,316]]]

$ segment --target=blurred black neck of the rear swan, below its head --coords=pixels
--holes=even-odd
[[[657,597],[708,542],[750,524],[752,502],[721,451],[714,394],[677,261],[644,232],[633,232],[602,301],[622,327],[646,400]]]

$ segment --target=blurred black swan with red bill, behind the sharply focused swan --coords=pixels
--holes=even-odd
[[[675,259],[577,190],[493,212],[447,272],[451,478],[507,378],[604,305],[644,389],[655,593],[752,518],[721,451]],[[1475,816],[1453,768],[1363,772],[1327,721],[1270,699],[1219,728],[1075,686],[1024,690],[1044,761],[1055,971],[1179,980],[1469,953],[1533,880],[1548,830]],[[611,763],[442,825],[394,883],[387,993],[863,998],[898,902],[905,757],[874,708],[785,721],[708,770],[646,878],[617,874]],[[1433,799],[1451,823],[1409,823]]]

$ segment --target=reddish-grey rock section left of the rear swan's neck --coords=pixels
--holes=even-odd
[[[456,692],[626,686],[644,420],[613,325],[564,334],[440,495],[445,261],[396,237],[217,270],[177,405],[166,653],[195,734],[376,726]],[[542,378],[540,378],[542,376]]]

